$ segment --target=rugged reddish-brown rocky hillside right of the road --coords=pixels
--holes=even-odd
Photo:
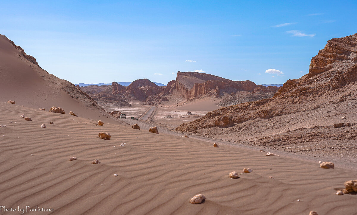
[[[356,53],[357,34],[332,39],[312,57],[308,74],[286,81],[271,99],[224,107],[177,130],[270,146],[355,140],[348,126],[357,122]]]

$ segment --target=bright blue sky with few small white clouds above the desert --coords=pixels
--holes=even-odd
[[[357,1],[0,2],[0,34],[72,83],[177,71],[282,84],[327,40],[357,33]],[[267,72],[266,72],[267,71]]]

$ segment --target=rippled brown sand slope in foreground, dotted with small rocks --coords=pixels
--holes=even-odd
[[[356,195],[334,194],[344,181],[357,178],[356,171],[338,166],[321,169],[317,163],[264,152],[213,148],[193,138],[157,135],[106,121],[97,126],[93,120],[60,115],[0,104],[0,124],[6,125],[0,127],[1,205],[53,208],[53,214],[357,211]],[[100,131],[110,132],[112,139],[97,138]],[[122,142],[125,146],[119,146]],[[69,161],[72,156],[78,160]],[[101,164],[91,164],[94,159]],[[244,167],[253,172],[228,178],[229,172]],[[205,203],[190,204],[188,200],[198,193],[206,196]]]

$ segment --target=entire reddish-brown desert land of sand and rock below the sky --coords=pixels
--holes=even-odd
[[[49,74],[1,35],[0,206],[53,209],[34,214],[356,214],[356,192],[336,195],[357,179],[356,53],[357,34],[332,39],[309,74],[281,88],[178,72],[167,86],[139,79],[98,92]],[[218,106],[224,99],[236,105]],[[158,134],[149,132],[154,126]],[[321,168],[325,161],[334,168]],[[205,200],[191,204],[197,194]]]

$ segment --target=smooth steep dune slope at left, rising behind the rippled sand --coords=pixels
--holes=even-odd
[[[36,59],[24,53],[5,36],[0,35],[0,101],[34,108],[63,107],[66,114],[106,119],[120,123],[107,114],[85,92],[66,80],[57,78],[38,66]]]

